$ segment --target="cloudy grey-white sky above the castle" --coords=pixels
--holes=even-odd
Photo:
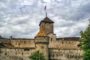
[[[0,35],[33,38],[45,5],[57,37],[80,36],[88,25],[90,0],[0,0]]]

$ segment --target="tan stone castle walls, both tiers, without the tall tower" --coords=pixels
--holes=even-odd
[[[83,60],[83,51],[78,46],[80,43],[79,40],[54,39],[55,37],[52,39],[50,38],[48,40],[48,45],[45,44],[47,40],[44,38],[37,39],[37,45],[34,40],[9,40],[8,43],[13,45],[12,48],[0,48],[0,55],[9,57],[18,56],[23,60],[24,58],[27,58],[28,60],[33,52],[41,50],[42,52],[47,53],[45,51],[48,50],[47,54],[49,55],[50,60]]]

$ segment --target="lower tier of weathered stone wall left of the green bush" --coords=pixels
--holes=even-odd
[[[0,48],[0,60],[30,60],[29,56],[31,56],[33,52],[35,52],[35,49]]]

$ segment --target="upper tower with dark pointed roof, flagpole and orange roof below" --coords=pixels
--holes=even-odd
[[[45,6],[45,12],[46,12],[46,6]],[[48,34],[54,34],[53,30],[53,21],[47,17],[47,12],[46,12],[46,17],[40,22],[40,30],[37,34],[37,36],[47,36]]]

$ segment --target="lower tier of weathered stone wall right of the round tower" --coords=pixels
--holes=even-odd
[[[49,49],[50,60],[83,60],[82,50]]]

